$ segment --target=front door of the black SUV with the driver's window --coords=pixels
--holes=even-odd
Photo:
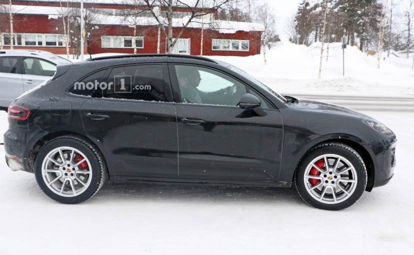
[[[251,87],[218,70],[170,65],[176,103],[179,177],[276,180],[280,168],[282,119]],[[266,116],[236,106],[253,93]]]

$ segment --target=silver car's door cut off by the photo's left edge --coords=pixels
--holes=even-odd
[[[9,106],[23,92],[19,57],[0,56],[0,106]]]

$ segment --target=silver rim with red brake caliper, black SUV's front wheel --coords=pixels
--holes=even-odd
[[[323,167],[319,167],[323,163]],[[313,169],[313,170],[312,170]],[[311,171],[318,174],[311,174]],[[311,183],[311,179],[317,183]],[[355,167],[345,157],[324,154],[314,158],[303,176],[306,190],[322,203],[334,204],[348,199],[355,191],[357,174]]]

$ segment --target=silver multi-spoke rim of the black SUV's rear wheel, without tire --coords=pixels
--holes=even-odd
[[[92,166],[82,151],[69,146],[58,147],[43,159],[42,176],[50,190],[72,197],[83,193],[91,184]]]

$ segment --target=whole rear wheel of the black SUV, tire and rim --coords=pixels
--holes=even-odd
[[[36,158],[36,180],[52,199],[79,203],[92,197],[105,182],[106,166],[99,150],[76,136],[46,143]]]

